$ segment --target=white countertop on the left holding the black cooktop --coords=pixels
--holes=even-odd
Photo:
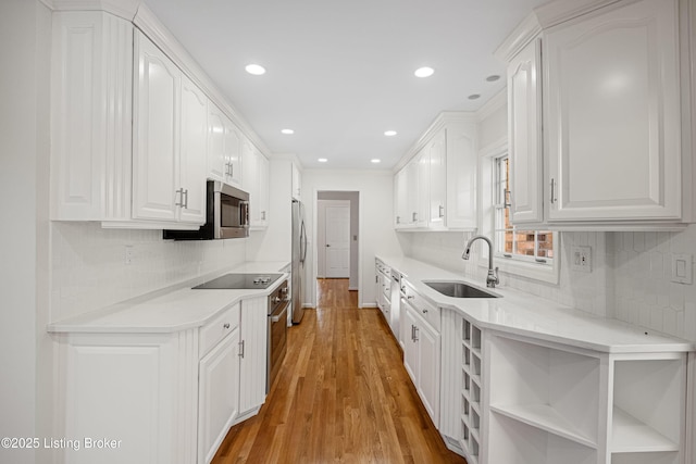
[[[289,262],[246,262],[99,311],[51,323],[48,331],[157,334],[200,327],[240,300],[270,294],[289,274],[284,273],[283,277],[262,290],[192,290],[191,287],[227,273],[283,273],[288,265]]]

